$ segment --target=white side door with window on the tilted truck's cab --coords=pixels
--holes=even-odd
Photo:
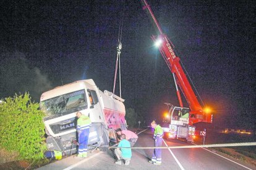
[[[101,111],[100,102],[96,91],[87,89],[88,99],[90,105],[90,119],[92,122],[103,122],[104,118]]]

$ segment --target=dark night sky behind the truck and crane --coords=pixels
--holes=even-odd
[[[150,1],[213,124],[253,128],[255,1]],[[153,47],[156,34],[138,1],[1,1],[0,98],[92,78],[113,90],[123,22],[122,98],[147,119],[178,104],[173,77]],[[118,95],[118,88],[116,94]],[[187,106],[187,103],[185,104]]]

